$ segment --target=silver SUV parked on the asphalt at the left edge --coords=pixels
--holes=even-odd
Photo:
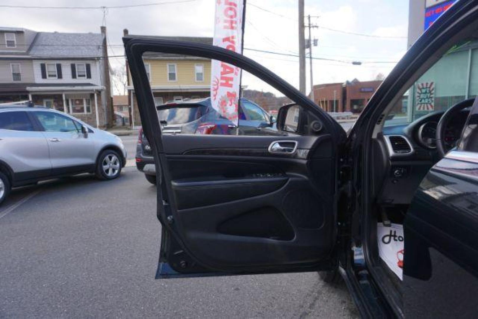
[[[56,110],[0,105],[0,203],[11,187],[81,173],[120,176],[120,138]]]

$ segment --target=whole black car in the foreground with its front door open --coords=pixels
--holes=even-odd
[[[478,1],[457,1],[413,44],[348,133],[245,56],[124,43],[161,167],[156,278],[320,271],[345,280],[364,318],[476,317]],[[277,118],[288,135],[159,133],[147,51],[219,60],[267,82],[295,103]],[[383,244],[400,242],[388,263]]]

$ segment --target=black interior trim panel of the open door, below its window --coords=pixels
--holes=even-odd
[[[273,136],[232,138],[237,153],[228,153],[231,136],[163,138],[185,242],[196,258],[227,270],[314,263],[327,256],[333,245],[329,190],[334,185],[309,176],[333,170],[330,149],[328,157],[301,159],[268,153],[277,140]],[[326,136],[287,139],[305,151],[329,144]]]

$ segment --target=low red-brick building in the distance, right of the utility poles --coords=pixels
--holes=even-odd
[[[354,79],[315,85],[315,103],[327,112],[360,113],[381,83],[381,80],[360,82]]]

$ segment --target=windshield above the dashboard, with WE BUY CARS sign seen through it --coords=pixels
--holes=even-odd
[[[478,94],[478,41],[454,45],[397,101],[385,126],[409,124]]]

